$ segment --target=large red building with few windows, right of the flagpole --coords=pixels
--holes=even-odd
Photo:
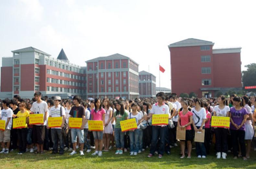
[[[213,42],[186,39],[170,44],[171,91],[214,97],[242,89],[241,48],[213,49]]]

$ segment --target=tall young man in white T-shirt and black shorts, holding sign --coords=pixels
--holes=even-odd
[[[48,115],[48,107],[45,101],[41,100],[41,92],[36,92],[34,97],[36,102],[34,102],[31,106],[30,111],[34,114],[43,114],[43,124],[35,124],[33,127],[33,142],[37,145],[37,151],[35,154],[40,153],[43,154],[43,142],[44,142],[44,134],[45,134],[45,125],[46,125],[46,118]]]

